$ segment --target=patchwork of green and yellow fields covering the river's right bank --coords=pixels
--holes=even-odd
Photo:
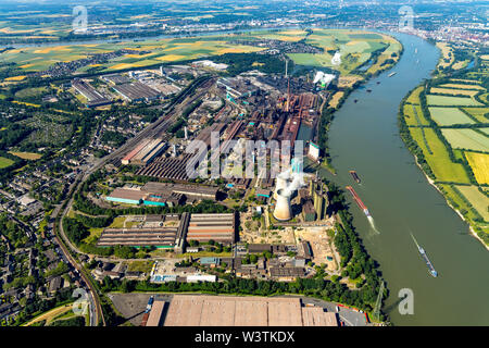
[[[452,73],[435,72],[403,98],[399,132],[428,183],[468,225],[469,234],[489,250],[485,211],[489,198],[484,191],[487,185],[482,165],[489,159],[489,140],[480,133],[485,119],[477,117],[488,111],[487,103],[478,98],[487,92],[481,84],[485,75],[468,75],[471,69],[459,71],[456,77],[471,77],[461,84]],[[467,94],[465,88],[476,91]],[[479,161],[469,162],[473,157]]]

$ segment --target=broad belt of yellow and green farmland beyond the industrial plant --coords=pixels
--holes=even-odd
[[[306,37],[304,30],[281,32],[252,32],[248,34],[230,34],[221,36],[201,36],[186,38],[149,39],[143,41],[124,40],[120,42],[86,44],[86,45],[59,45],[45,47],[24,47],[8,50],[0,53],[0,60],[4,63],[16,63],[25,73],[41,72],[58,62],[70,62],[89,57],[90,54],[108,53],[121,49],[130,49],[138,53],[129,53],[114,58],[105,63],[92,64],[78,69],[77,73],[86,73],[90,70],[98,72],[114,72],[136,67],[146,67],[161,63],[172,63],[195,60],[225,53],[248,53],[266,49],[240,45],[239,40],[278,39],[284,41],[299,41]],[[306,42],[325,50],[321,54],[290,53],[289,57],[297,64],[312,66],[328,66],[347,75],[360,65],[366,63],[372,52],[385,49],[379,55],[378,62],[368,69],[375,72],[387,59],[399,59],[401,45],[387,35],[353,32],[347,29],[315,29],[306,37]],[[341,64],[334,66],[333,54],[341,53]],[[12,76],[7,78],[9,83],[17,83],[25,78]],[[22,96],[22,94],[21,94]],[[20,96],[20,98],[21,98]]]

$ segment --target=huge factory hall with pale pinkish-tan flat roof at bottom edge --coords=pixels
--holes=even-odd
[[[299,298],[174,295],[166,313],[161,307],[150,318],[164,326],[338,326],[335,312]]]

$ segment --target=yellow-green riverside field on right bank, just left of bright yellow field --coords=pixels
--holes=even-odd
[[[423,140],[422,129],[410,127],[411,136],[423,150],[423,154],[431,167],[437,181],[468,184],[469,179],[464,167],[462,164],[453,163],[450,160],[447,148],[438,138],[435,130],[431,128],[424,128],[424,130],[432,154],[430,154],[426,148],[425,141]]]

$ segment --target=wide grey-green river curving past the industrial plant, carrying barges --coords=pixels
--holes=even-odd
[[[336,112],[329,148],[338,174],[321,174],[341,187],[352,185],[374,217],[375,227],[346,191],[354,225],[390,290],[384,310],[394,325],[489,325],[489,251],[429,185],[397,126],[401,99],[429,78],[439,50],[415,36],[391,35],[404,46],[402,58]],[[397,74],[388,77],[391,72]],[[359,173],[361,185],[349,170]],[[438,277],[428,273],[411,233]],[[402,288],[413,291],[414,314],[400,314]]]

